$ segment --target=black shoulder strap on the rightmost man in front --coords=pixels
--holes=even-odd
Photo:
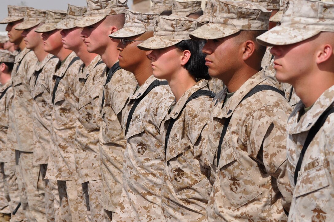
[[[308,146],[310,145],[310,143],[312,142],[312,140],[314,139],[315,135],[318,133],[320,128],[324,125],[327,117],[331,113],[334,113],[334,107],[331,107],[331,108],[327,109],[323,114],[321,114],[321,116],[319,117],[317,122],[313,125],[313,127],[311,127],[311,129],[310,129],[310,131],[309,131],[309,133],[306,137],[302,152],[300,153],[300,156],[299,156],[299,159],[298,159],[298,162],[297,162],[297,166],[296,166],[296,170],[295,170],[295,178],[294,178],[295,179],[295,185],[297,183],[298,173],[299,173],[300,168],[302,166],[302,162],[303,162],[305,152],[306,152]]]

